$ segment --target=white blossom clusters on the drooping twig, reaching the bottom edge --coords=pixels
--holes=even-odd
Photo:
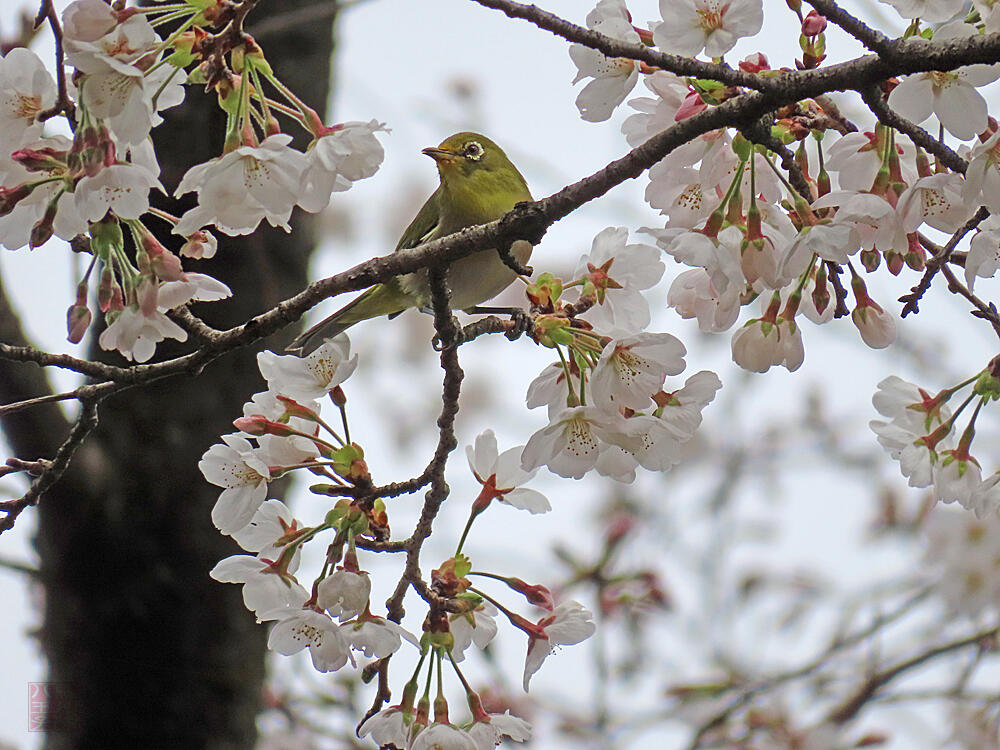
[[[357,667],[361,657],[383,659],[399,650],[404,641],[420,650],[402,703],[368,719],[360,727],[363,736],[371,735],[381,745],[393,743],[411,750],[440,743],[484,750],[505,736],[519,741],[530,737],[530,725],[524,720],[484,711],[458,666],[472,644],[480,649],[489,645],[498,631],[495,618],[502,613],[527,636],[523,675],[527,690],[532,675],[555,647],[579,643],[595,629],[590,611],[577,602],[557,604],[544,586],[474,571],[462,554],[473,521],[493,500],[531,513],[550,509],[541,493],[524,486],[534,471],[520,466],[523,446],[500,452],[490,430],[468,446],[469,467],[481,491],[472,503],[469,523],[454,557],[433,571],[433,593],[423,592],[430,611],[418,640],[389,619],[388,613],[380,616],[372,612],[371,576],[359,559],[361,550],[379,551],[378,545],[388,540],[389,518],[385,503],[373,494],[364,451],[350,439],[342,384],[353,374],[357,357],[351,355],[346,335],[328,340],[304,358],[262,352],[258,366],[268,390],[255,394],[244,405],[243,416],[234,422],[238,432],[224,435],[199,464],[205,478],[222,488],[212,520],[249,553],[220,561],[212,577],[241,584],[247,609],[258,621],[273,622],[270,649],[285,655],[308,650],[320,672],[348,664]],[[340,412],[342,431],[321,416],[325,400]],[[267,499],[273,479],[299,469],[328,480],[313,485],[314,493],[340,497],[316,525],[303,524],[284,503]],[[325,534],[331,534],[333,541],[322,570],[303,585],[301,550]],[[503,583],[544,614],[530,620],[516,613],[474,585],[473,576]],[[427,680],[435,669],[440,674],[443,663],[453,666],[466,691],[471,721],[452,723],[443,695],[434,701],[433,720],[427,693],[415,701],[422,668],[428,661]]]

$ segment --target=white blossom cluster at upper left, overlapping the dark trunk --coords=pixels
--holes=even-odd
[[[160,341],[186,340],[167,312],[229,295],[224,284],[182,264],[182,257],[214,255],[217,240],[207,227],[245,234],[267,219],[287,229],[294,206],[322,210],[331,192],[371,176],[382,161],[375,136],[382,124],[323,125],[274,76],[250,37],[234,43],[232,35],[208,33],[234,11],[209,5],[121,9],[74,0],[62,13],[62,48],[75,69],[69,91],[58,89],[29,50],[13,49],[0,60],[0,244],[35,248],[56,236],[76,238],[74,247],[89,251],[67,312],[73,343],[93,320],[95,277],[107,324],[102,348],[145,362]],[[169,23],[179,29],[163,38],[157,28]],[[270,99],[265,81],[290,106]],[[185,83],[208,85],[237,114],[229,117],[224,154],[193,167],[178,186],[177,195],[196,191],[199,201],[177,218],[150,207],[150,191],[164,191],[150,132],[163,110],[183,101]],[[75,113],[71,138],[44,132],[44,121],[59,111]],[[291,148],[273,112],[313,136],[305,153]],[[150,216],[180,236],[176,249],[147,227]]]

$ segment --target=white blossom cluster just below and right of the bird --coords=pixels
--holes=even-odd
[[[625,482],[638,466],[666,471],[722,385],[703,371],[675,391],[663,389],[668,375],[684,370],[686,350],[669,333],[644,330],[650,313],[642,290],[659,281],[663,263],[656,248],[627,242],[627,229],[609,227],[581,258],[574,281],[543,274],[528,288],[533,336],[559,362],[528,389],[528,406],[547,406],[549,423],[521,454],[527,471],[545,465],[579,479],[596,469]],[[577,286],[579,297],[567,303],[564,289]]]

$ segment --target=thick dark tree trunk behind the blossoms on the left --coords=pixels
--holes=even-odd
[[[268,21],[271,31],[258,41],[269,61],[322,112],[335,13],[275,23],[310,5],[319,7],[315,0],[261,3],[248,20],[251,32]],[[220,114],[214,97],[197,90],[166,113],[156,133],[168,189],[188,166],[219,154]],[[178,209],[176,202],[165,206]],[[233,299],[196,312],[228,327],[301,289],[314,241],[309,219],[298,217],[291,235],[263,229],[248,238],[221,237],[216,260],[187,263],[234,292]],[[6,341],[20,338],[13,315],[3,316],[0,329]],[[164,348],[163,356],[178,351]],[[91,356],[120,363],[96,346]],[[218,489],[204,481],[197,461],[231,430],[245,398],[262,389],[254,357],[241,349],[198,377],[105,402],[97,431],[39,504],[40,637],[56,699],[50,750],[253,746],[265,629],[244,608],[239,586],[208,577],[237,547],[211,525]],[[2,368],[4,402],[46,392],[37,367],[5,362]],[[3,427],[15,455],[39,457],[52,455],[67,424],[48,405],[10,415]]]

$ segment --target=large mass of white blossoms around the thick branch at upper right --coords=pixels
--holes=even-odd
[[[950,20],[962,7],[957,0],[894,0],[892,5],[924,21]],[[982,13],[989,10],[992,19],[992,4],[983,5]],[[662,2],[661,12],[662,21],[650,24],[651,33],[643,32],[632,26],[623,2],[602,0],[587,22],[615,39],[712,58],[723,56],[738,38],[757,34],[763,23],[761,0]],[[804,56],[797,64],[817,67],[825,56],[826,20],[815,11],[800,18]],[[961,20],[933,30],[914,21],[907,34],[916,33],[940,41],[979,31]],[[577,99],[586,120],[608,119],[637,77],[644,77],[652,96],[630,100],[636,113],[622,126],[632,146],[740,93],[631,60],[611,60],[580,45],[571,48],[571,55],[579,70],[576,80],[591,79]],[[739,66],[749,73],[772,72],[760,53]],[[754,372],[774,366],[795,370],[802,364],[802,318],[825,324],[850,312],[868,346],[889,346],[896,337],[895,318],[872,298],[863,274],[882,261],[893,274],[906,266],[922,270],[928,247],[936,247],[927,245],[924,228],[955,232],[981,204],[996,203],[998,136],[977,88],[997,78],[1000,67],[971,65],[906,76],[886,89],[887,105],[904,117],[924,122],[933,114],[956,139],[979,136],[969,152],[967,176],[931,164],[908,138],[884,125],[874,132],[849,132],[827,118],[818,127],[825,113],[813,102],[800,104],[775,125],[783,146],[798,143],[798,180],[784,176],[787,164],[782,160],[779,166],[773,151],[728,130],[674,149],[649,170],[646,188],[646,200],[665,217],[664,225],[642,230],[691,269],[674,280],[670,306],[684,318],[697,319],[703,331],[721,332],[734,326],[742,306],[760,298],[760,317],[746,321],[732,337],[733,360]],[[839,130],[832,139],[831,130]],[[807,148],[810,140],[813,153]],[[998,238],[992,219],[977,231],[966,265],[970,286],[1000,266]],[[854,298],[850,310],[849,292],[839,278],[844,266]]]

